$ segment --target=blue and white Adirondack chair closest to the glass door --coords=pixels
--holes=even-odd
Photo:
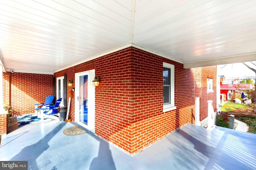
[[[36,110],[40,111],[40,114],[38,117],[41,118],[41,120],[44,120],[44,117],[49,117],[50,119],[56,119],[59,120],[59,117],[55,116],[58,113],[58,108],[60,107],[60,102],[62,98],[59,98],[56,100],[56,103],[54,106],[46,105],[46,108],[37,108]]]

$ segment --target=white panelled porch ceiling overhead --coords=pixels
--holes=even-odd
[[[5,69],[52,74],[128,46],[185,68],[256,60],[256,0],[0,0]]]

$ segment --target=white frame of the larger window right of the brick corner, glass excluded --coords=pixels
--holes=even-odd
[[[176,109],[176,106],[174,105],[174,65],[163,63],[163,67],[171,69],[171,72],[170,72],[171,85],[170,85],[170,94],[169,94],[170,101],[166,104],[163,104],[163,111],[166,112],[166,111]],[[163,87],[164,87],[164,84],[163,84]]]

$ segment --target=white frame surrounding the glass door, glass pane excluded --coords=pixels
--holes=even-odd
[[[80,76],[88,75],[88,123],[87,125],[79,121],[79,86]],[[75,73],[75,122],[88,130],[95,128],[95,87],[92,80],[95,77],[95,70]]]

